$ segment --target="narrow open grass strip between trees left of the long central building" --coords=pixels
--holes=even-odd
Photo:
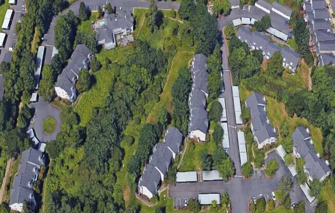
[[[155,108],[148,116],[147,122],[148,123],[157,123],[157,111],[159,108],[164,107],[166,108],[167,112],[172,114],[173,106],[172,106],[172,94],[171,88],[173,82],[178,77],[178,71],[181,67],[188,67],[189,61],[193,57],[194,52],[177,52],[175,57],[172,60],[171,68],[169,74],[167,74],[166,83],[163,89],[163,92],[160,94],[160,99],[158,103],[155,105]]]

